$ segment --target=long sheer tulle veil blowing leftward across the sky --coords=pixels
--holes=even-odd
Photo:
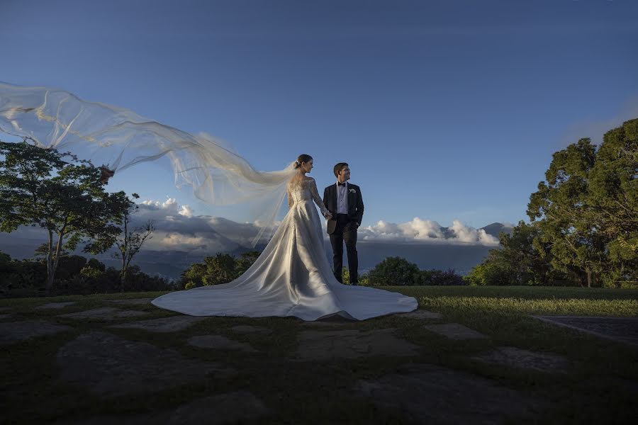
[[[176,186],[190,186],[204,202],[250,203],[250,218],[259,223],[253,246],[272,231],[295,173],[293,162],[279,171],[257,171],[211,135],[191,135],[128,109],[47,87],[0,82],[0,131],[89,159],[115,176],[136,164],[167,157]]]

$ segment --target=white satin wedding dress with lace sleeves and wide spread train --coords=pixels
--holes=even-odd
[[[239,278],[162,295],[157,307],[191,316],[295,316],[316,320],[340,315],[364,320],[410,312],[413,297],[365,286],[342,285],[325,255],[321,220],[326,212],[314,179],[291,179],[290,210],[257,261]]]

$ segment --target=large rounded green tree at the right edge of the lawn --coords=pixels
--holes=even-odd
[[[535,240],[554,268],[591,286],[637,279],[638,120],[554,154],[527,205]]]

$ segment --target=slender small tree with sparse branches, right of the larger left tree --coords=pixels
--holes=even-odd
[[[133,193],[132,196],[134,199],[140,198],[137,193]],[[138,252],[142,248],[142,244],[144,244],[147,239],[152,238],[151,234],[153,231],[155,231],[155,223],[153,222],[153,220],[147,220],[144,225],[129,229],[133,214],[135,214],[135,211],[138,210],[139,207],[135,204],[134,200],[125,198],[125,196],[123,198],[123,201],[124,204],[121,205],[121,209],[123,210],[123,227],[121,229],[121,236],[118,237],[115,241],[115,244],[118,247],[118,251],[113,254],[116,259],[122,261],[122,268],[120,271],[121,292],[124,291],[126,271],[128,270],[130,261],[133,259],[133,256],[135,256],[135,254],[138,254]]]

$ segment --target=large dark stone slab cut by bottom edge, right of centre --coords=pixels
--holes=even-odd
[[[516,424],[544,403],[498,383],[438,365],[415,364],[376,380],[360,380],[355,394],[397,409],[415,424]]]

